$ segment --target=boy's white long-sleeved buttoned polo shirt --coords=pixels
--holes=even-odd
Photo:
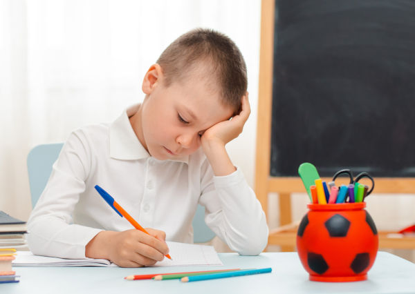
[[[102,230],[133,228],[98,194],[106,190],[143,227],[165,231],[166,240],[193,242],[197,204],[205,222],[242,255],[257,255],[268,241],[261,204],[241,170],[215,177],[203,150],[160,161],[140,144],[129,117],[75,130],[62,148],[44,192],[28,220],[28,245],[38,255],[84,258]]]

